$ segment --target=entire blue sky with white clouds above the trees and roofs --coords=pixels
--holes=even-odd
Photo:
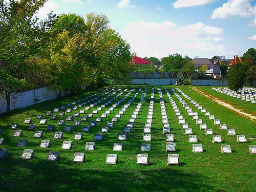
[[[256,48],[256,0],[49,0],[37,13],[106,15],[139,57],[242,55]]]

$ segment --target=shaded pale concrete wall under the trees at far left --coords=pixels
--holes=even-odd
[[[62,96],[69,94],[69,92],[62,90]],[[10,99],[11,110],[25,108],[32,104],[49,101],[56,99],[58,90],[53,90],[51,87],[40,88],[22,93],[12,93]],[[0,94],[0,113],[6,112],[6,100],[5,95]]]

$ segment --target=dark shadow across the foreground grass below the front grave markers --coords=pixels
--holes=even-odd
[[[35,162],[8,158],[1,167],[1,191],[208,191],[207,177],[200,173],[183,172],[177,166],[151,169],[150,165],[120,169],[124,163],[87,168],[70,162]],[[1,163],[2,164],[2,163]],[[183,164],[181,164],[183,166]],[[203,182],[202,182],[203,181]]]

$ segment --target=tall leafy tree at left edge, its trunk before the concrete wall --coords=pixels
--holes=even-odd
[[[40,30],[33,15],[46,0],[0,0],[0,83],[5,93],[7,112],[10,95],[29,86],[26,77],[31,68],[26,59],[36,53]]]

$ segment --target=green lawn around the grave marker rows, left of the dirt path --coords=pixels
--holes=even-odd
[[[192,143],[188,143],[188,135],[184,134],[181,125],[169,103],[164,91],[164,87],[176,101],[182,115],[193,128],[194,135],[198,136],[199,143],[203,144],[204,153],[194,154],[191,152]],[[139,87],[136,87],[138,89]],[[142,87],[144,91],[146,87]],[[110,133],[104,133],[103,141],[96,141],[95,151],[85,151],[86,142],[93,141],[94,135],[101,132],[101,126],[106,125],[106,121],[112,117],[126,104],[135,94],[131,94],[120,105],[117,106],[108,118],[103,118],[102,122],[97,122],[97,127],[93,127],[91,132],[83,133],[83,140],[74,141],[74,134],[82,131],[82,126],[88,125],[90,120],[95,120],[96,116],[89,118],[89,121],[82,122],[80,127],[73,127],[71,133],[64,133],[62,140],[53,140],[55,132],[46,132],[46,126],[39,125],[35,120],[36,114],[45,117],[46,111],[53,111],[61,105],[71,103],[78,98],[97,93],[97,91],[87,92],[77,97],[63,100],[53,100],[25,109],[13,111],[11,115],[0,116],[0,129],[4,130],[5,144],[2,148],[9,148],[9,157],[0,160],[0,191],[255,191],[256,168],[254,166],[256,155],[249,154],[249,144],[256,144],[255,140],[247,143],[238,143],[236,136],[227,136],[226,130],[219,130],[218,125],[214,125],[212,120],[208,120],[195,106],[187,102],[193,111],[198,111],[199,118],[203,119],[207,126],[214,129],[214,134],[222,136],[223,144],[230,144],[232,154],[221,154],[221,143],[212,143],[212,136],[205,135],[204,130],[199,129],[195,121],[181,106],[178,99],[170,91],[170,86],[162,86],[163,98],[166,112],[171,126],[171,132],[175,134],[177,144],[177,154],[180,155],[180,166],[167,166],[167,154],[165,152],[166,142],[163,135],[161,108],[159,94],[155,88],[154,115],[152,127],[152,151],[148,152],[150,165],[137,165],[137,154],[143,142],[143,125],[146,122],[148,104],[150,101],[151,88],[148,87],[146,102],[142,104],[141,111],[135,121],[132,133],[127,135],[127,141],[123,142],[122,152],[113,152],[113,143],[118,141],[118,133],[123,132],[123,127],[129,121],[131,114],[140,101],[141,94],[133,101],[131,106],[121,115],[121,119],[110,128]],[[176,87],[173,86],[176,90]],[[197,100],[207,111],[210,111],[215,118],[221,119],[221,123],[226,123],[228,127],[236,129],[237,134],[245,134],[247,137],[256,137],[256,124],[243,117],[237,116],[228,109],[216,103],[212,103],[205,97],[190,89],[189,86],[180,86],[182,91],[191,98]],[[177,92],[177,90],[176,90]],[[178,93],[178,92],[177,92]],[[123,94],[121,97],[123,97]],[[117,100],[119,100],[119,97]],[[183,97],[185,100],[185,98]],[[116,100],[116,101],[117,101]],[[98,116],[107,108],[99,112]],[[93,109],[86,111],[92,112]],[[78,108],[79,110],[79,108]],[[78,110],[76,110],[78,112]],[[58,113],[53,113],[58,114]],[[73,113],[72,113],[73,115]],[[67,114],[66,114],[67,116]],[[37,124],[36,130],[44,131],[43,139],[34,139],[34,131],[28,131],[27,124],[23,124],[25,118],[32,118],[32,123]],[[64,119],[58,117],[58,119]],[[66,119],[66,118],[65,118]],[[74,118],[75,120],[78,118]],[[79,118],[80,119],[80,118]],[[12,122],[19,123],[19,129],[24,130],[24,137],[29,144],[26,147],[16,147],[19,138],[13,138],[14,130],[9,128]],[[50,121],[55,124],[56,131],[63,131],[63,126],[56,126],[57,121]],[[66,124],[73,124],[65,121]],[[52,146],[47,149],[39,148],[41,140],[51,140]],[[61,150],[63,141],[73,141],[72,150]],[[22,160],[20,157],[25,148],[35,150],[35,158],[31,161]],[[46,160],[49,151],[59,151],[58,162]],[[83,164],[73,163],[75,152],[85,152],[86,162]],[[118,164],[105,165],[106,154],[118,154]]]

